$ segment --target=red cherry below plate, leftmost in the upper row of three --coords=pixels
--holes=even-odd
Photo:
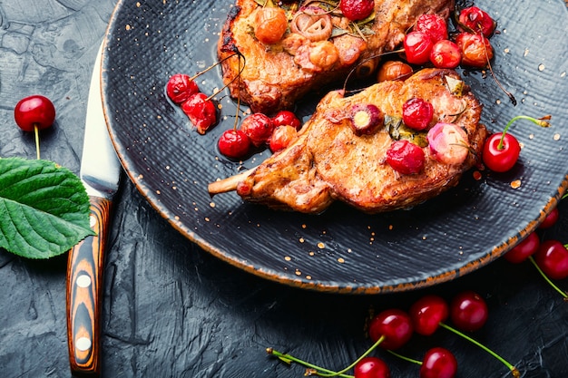
[[[375,316],[368,328],[368,334],[377,343],[384,336],[380,345],[385,349],[397,349],[406,344],[413,333],[412,320],[404,311],[385,310]]]

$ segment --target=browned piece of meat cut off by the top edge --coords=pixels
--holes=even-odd
[[[291,3],[315,5],[314,1]],[[357,63],[396,50],[419,15],[447,17],[453,6],[454,0],[377,0],[375,20],[361,28],[363,37],[357,32],[334,33],[326,40],[312,41],[289,28],[278,43],[262,44],[252,33],[261,6],[255,0],[236,0],[223,26],[218,53],[222,60],[239,52],[245,57],[245,65],[240,80],[235,80],[242,60],[233,57],[224,61],[223,81],[231,82],[231,96],[240,96],[252,111],[269,114],[291,108],[306,93],[343,81]],[[313,10],[309,12],[313,14]],[[288,15],[292,18],[298,13],[292,10]],[[350,30],[345,17],[332,15],[334,30]]]

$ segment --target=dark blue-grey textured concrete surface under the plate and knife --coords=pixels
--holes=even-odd
[[[42,158],[78,172],[88,82],[114,0],[0,1],[0,157],[34,158],[34,138],[15,126],[15,103],[41,93],[54,101]],[[568,303],[529,263],[503,259],[441,286],[385,296],[338,296],[280,286],[211,257],[181,237],[124,182],[104,268],[103,377],[300,377],[303,368],[267,356],[269,346],[340,369],[367,349],[367,317],[407,308],[419,296],[473,289],[489,320],[473,336],[523,377],[568,376]],[[568,199],[564,200],[568,201]],[[544,234],[568,242],[568,205]],[[498,228],[495,229],[498,232]],[[483,237],[483,236],[480,236]],[[48,261],[0,250],[0,376],[69,377],[66,255]],[[558,282],[568,289],[568,280]],[[445,346],[460,378],[510,377],[501,363],[439,330],[401,352],[420,359]],[[415,364],[377,351],[392,377]]]

